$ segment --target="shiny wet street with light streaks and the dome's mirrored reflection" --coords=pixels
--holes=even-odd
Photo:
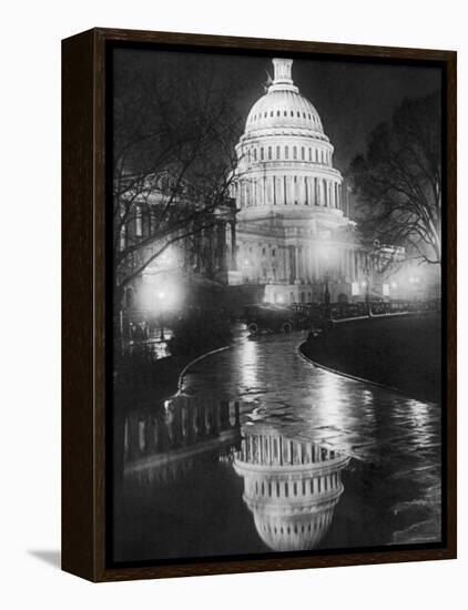
[[[440,540],[439,406],[316,368],[304,340],[240,334],[129,406],[116,561]]]

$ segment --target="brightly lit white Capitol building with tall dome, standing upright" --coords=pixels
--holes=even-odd
[[[251,109],[237,146],[237,270],[265,284],[265,301],[363,298],[374,271],[369,250],[344,210],[334,146],[314,105],[274,59],[274,80]]]

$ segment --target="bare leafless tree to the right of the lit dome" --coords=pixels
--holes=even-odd
[[[441,256],[440,92],[406,99],[391,123],[370,134],[366,154],[348,169],[364,234],[405,246],[408,256]]]

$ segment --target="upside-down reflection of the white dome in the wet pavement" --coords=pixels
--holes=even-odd
[[[242,440],[234,468],[244,478],[244,501],[263,541],[276,551],[316,547],[343,492],[349,458],[272,430]]]

